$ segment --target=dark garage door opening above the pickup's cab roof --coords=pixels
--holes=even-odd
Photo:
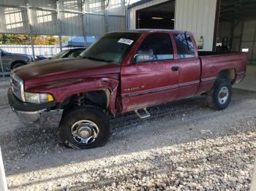
[[[136,12],[136,28],[174,29],[175,1],[167,1]]]

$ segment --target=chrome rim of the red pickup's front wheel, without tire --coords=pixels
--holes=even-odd
[[[99,128],[91,120],[80,120],[72,125],[71,134],[78,144],[90,144],[97,139]]]

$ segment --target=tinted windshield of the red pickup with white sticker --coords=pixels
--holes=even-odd
[[[80,54],[95,61],[121,63],[140,37],[140,33],[118,32],[103,36]]]

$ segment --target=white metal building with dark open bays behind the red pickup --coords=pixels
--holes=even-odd
[[[163,28],[164,23],[165,28],[192,31],[197,44],[203,42],[201,50],[220,45],[244,51],[249,64],[256,64],[255,9],[255,0],[142,0],[129,6],[129,28]]]

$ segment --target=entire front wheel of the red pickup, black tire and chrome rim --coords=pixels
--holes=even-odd
[[[100,147],[108,142],[110,135],[108,117],[95,106],[71,109],[62,116],[59,125],[59,136],[66,147]]]

